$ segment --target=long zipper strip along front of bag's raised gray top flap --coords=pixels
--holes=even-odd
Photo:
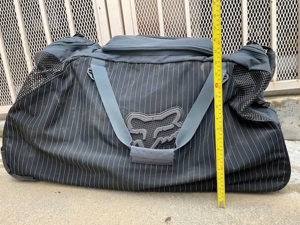
[[[126,55],[212,55],[212,50],[204,47],[167,47],[167,46],[151,46],[151,47],[122,47],[122,46],[103,46],[103,52],[113,54]]]

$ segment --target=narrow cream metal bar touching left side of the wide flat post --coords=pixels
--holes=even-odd
[[[99,25],[101,28],[101,39],[103,43],[106,43],[111,37],[106,2],[105,0],[97,0],[96,5],[98,11]]]

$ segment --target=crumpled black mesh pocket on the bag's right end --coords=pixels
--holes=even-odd
[[[243,118],[270,121],[248,107],[267,87],[272,78],[271,73],[261,70],[249,71],[239,64],[234,64],[232,77],[237,86],[237,95],[230,101],[230,106]]]

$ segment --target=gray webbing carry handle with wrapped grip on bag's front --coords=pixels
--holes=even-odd
[[[213,69],[210,70],[197,99],[178,132],[175,140],[176,147],[152,149],[131,145],[132,138],[119,110],[104,63],[105,61],[101,59],[93,58],[91,60],[93,78],[115,135],[123,144],[130,148],[131,162],[173,164],[174,151],[185,145],[192,138],[213,99]],[[223,63],[222,71],[222,76],[224,77],[226,73],[225,63]]]

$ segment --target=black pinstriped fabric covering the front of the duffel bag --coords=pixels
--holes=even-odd
[[[149,191],[215,190],[213,104],[192,139],[175,152],[174,165],[130,163],[129,149],[116,138],[94,81],[91,58],[70,61],[64,71],[17,100],[10,109],[3,150],[11,173],[90,187]],[[122,116],[190,110],[211,62],[161,64],[106,61]],[[236,82],[227,63],[224,84],[226,189],[272,191],[290,175],[278,124],[246,120],[229,102]],[[173,145],[163,146],[172,147]]]

